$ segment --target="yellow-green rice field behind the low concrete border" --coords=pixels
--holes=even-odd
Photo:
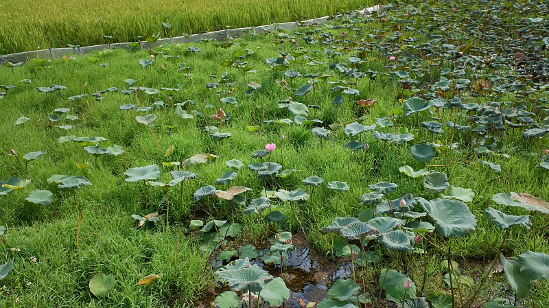
[[[0,1],[0,54],[107,43],[138,36],[196,34],[231,27],[302,21],[359,10],[375,1]],[[171,27],[164,27],[170,23]]]

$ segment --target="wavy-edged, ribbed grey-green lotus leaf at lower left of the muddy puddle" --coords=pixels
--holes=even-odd
[[[248,268],[235,270],[220,270],[219,276],[229,282],[229,287],[234,291],[261,292],[265,287],[265,281],[272,279],[266,270],[261,270],[256,264]]]

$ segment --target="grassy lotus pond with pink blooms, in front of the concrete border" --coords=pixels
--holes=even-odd
[[[0,307],[547,307],[538,1],[0,70]]]

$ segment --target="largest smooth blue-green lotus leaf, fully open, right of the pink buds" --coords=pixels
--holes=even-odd
[[[458,200],[434,199],[431,201],[417,198],[423,210],[436,224],[436,230],[443,237],[463,237],[471,234],[476,228],[475,215],[469,211],[467,204]]]

